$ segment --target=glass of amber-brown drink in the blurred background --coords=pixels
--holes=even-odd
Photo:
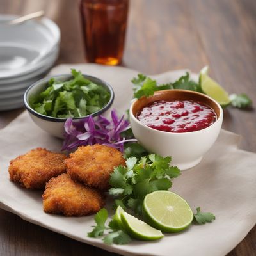
[[[122,61],[129,0],[81,0],[84,45],[89,62]]]

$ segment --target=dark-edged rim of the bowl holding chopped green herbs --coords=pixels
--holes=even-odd
[[[113,104],[113,101],[115,99],[114,90],[108,82],[106,82],[106,81],[104,81],[104,80],[102,80],[98,77],[90,76],[90,75],[87,75],[87,74],[82,74],[82,75],[84,77],[88,78],[88,79],[97,80],[98,83],[104,84],[104,86],[106,86],[106,88],[108,88],[108,90],[109,90],[110,98],[109,98],[108,103],[102,109],[100,109],[99,111],[96,111],[96,112],[90,114],[92,116],[98,116],[98,115],[102,114],[103,112],[107,111],[111,107],[111,105]],[[58,117],[42,115],[42,114],[36,112],[33,108],[31,108],[31,106],[29,106],[29,103],[28,103],[28,100],[27,100],[27,98],[29,97],[28,94],[29,94],[29,91],[31,90],[31,88],[33,88],[36,85],[41,84],[43,82],[47,83],[49,81],[49,79],[51,79],[51,78],[63,77],[63,76],[67,77],[67,79],[68,79],[68,77],[72,77],[72,74],[59,74],[59,75],[56,75],[56,76],[47,76],[47,77],[44,77],[44,78],[36,81],[35,83],[31,84],[31,86],[29,86],[29,88],[26,90],[26,92],[24,93],[24,96],[23,96],[24,106],[29,111],[29,113],[31,113],[34,116],[37,116],[38,118],[41,118],[41,119],[44,119],[44,120],[47,120],[47,121],[51,121],[51,122],[65,122],[68,119],[68,118],[58,118]],[[84,119],[84,118],[86,118],[90,115],[81,116],[81,117],[74,117],[72,119],[73,120],[81,120],[81,119]]]

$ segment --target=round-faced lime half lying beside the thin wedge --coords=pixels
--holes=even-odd
[[[165,190],[145,196],[143,214],[147,223],[163,232],[179,232],[193,220],[188,203],[179,195]]]

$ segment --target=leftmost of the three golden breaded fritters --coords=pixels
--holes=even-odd
[[[10,161],[10,180],[28,189],[44,189],[52,177],[66,172],[65,154],[36,148]]]

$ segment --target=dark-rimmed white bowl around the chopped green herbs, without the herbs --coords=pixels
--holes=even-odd
[[[92,116],[101,115],[103,113],[106,114],[106,111],[111,107],[114,100],[114,91],[110,84],[106,83],[105,81],[102,81],[101,79],[93,76],[83,75],[87,79],[90,79],[90,81],[93,81],[93,83],[100,84],[104,87],[106,87],[109,90],[110,93],[110,99],[108,104],[104,106],[104,108],[100,109],[99,111],[92,114]],[[24,104],[26,109],[29,111],[29,115],[31,116],[33,122],[35,122],[38,127],[43,129],[44,131],[48,132],[49,134],[52,134],[53,136],[56,136],[58,138],[63,139],[64,138],[64,124],[67,120],[67,118],[55,118],[51,116],[45,116],[40,113],[37,113],[31,106],[29,106],[29,98],[31,95],[38,95],[38,93],[45,90],[48,81],[51,78],[56,78],[59,81],[68,81],[72,78],[70,74],[60,75],[60,76],[51,76],[51,77],[45,77],[44,79],[39,80],[38,82],[32,84],[24,93]],[[83,119],[86,116],[83,116],[81,118],[73,118],[75,121],[79,121]]]

